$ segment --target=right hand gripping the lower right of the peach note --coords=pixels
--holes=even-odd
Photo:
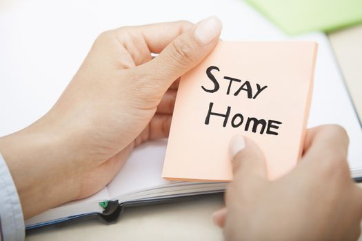
[[[362,190],[350,178],[348,136],[325,125],[308,130],[303,158],[283,178],[269,182],[265,160],[252,140],[232,143],[234,180],[226,209],[214,213],[226,240],[356,240]],[[241,143],[241,144],[240,144]],[[235,146],[237,144],[237,146]]]

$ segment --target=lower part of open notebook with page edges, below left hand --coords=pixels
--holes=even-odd
[[[132,202],[147,203],[154,200],[217,193],[225,189],[225,182],[169,182],[161,178],[166,143],[167,140],[163,139],[136,148],[107,187],[89,198],[69,202],[26,220],[26,228],[33,229],[103,212],[112,215],[117,207],[108,207],[114,205],[114,202],[109,202],[110,200],[117,200],[119,205],[132,204]]]

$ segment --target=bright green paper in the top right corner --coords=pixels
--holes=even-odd
[[[362,22],[362,0],[246,0],[288,34],[330,32]]]

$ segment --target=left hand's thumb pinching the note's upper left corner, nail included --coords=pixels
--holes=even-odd
[[[217,17],[209,17],[186,30],[174,39],[152,61],[146,70],[152,70],[152,84],[165,92],[168,87],[205,59],[219,42],[222,23]],[[159,88],[160,87],[160,88]]]

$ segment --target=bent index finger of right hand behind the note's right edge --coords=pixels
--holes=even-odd
[[[328,180],[331,187],[344,191],[353,188],[347,161],[348,136],[339,125],[321,125],[308,129],[303,158],[295,169],[301,177],[310,174],[310,185]]]

